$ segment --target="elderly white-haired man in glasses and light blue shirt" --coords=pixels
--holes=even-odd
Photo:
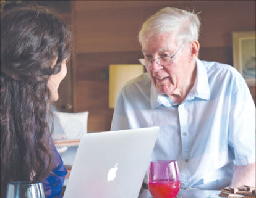
[[[181,188],[255,186],[254,101],[237,70],[197,58],[199,29],[171,7],[143,24],[147,73],[122,88],[111,130],[160,126],[151,159],[177,160]]]

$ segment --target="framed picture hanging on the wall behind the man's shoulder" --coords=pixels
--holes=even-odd
[[[255,31],[232,33],[233,65],[245,78],[247,85],[256,86]]]

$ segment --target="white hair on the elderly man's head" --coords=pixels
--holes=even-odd
[[[161,33],[171,33],[176,36],[176,44],[198,40],[200,20],[194,12],[165,7],[146,20],[139,32],[139,42],[148,40],[151,36]]]

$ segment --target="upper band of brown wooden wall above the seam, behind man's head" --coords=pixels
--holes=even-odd
[[[143,5],[142,1],[75,1],[77,52],[139,50],[142,23],[166,6],[202,11],[202,47],[231,46],[232,31],[255,29],[255,1],[148,1]]]

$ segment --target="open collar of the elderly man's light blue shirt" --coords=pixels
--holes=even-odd
[[[210,99],[210,86],[208,83],[207,71],[201,60],[196,59],[196,63],[197,63],[197,76],[195,78],[194,86],[190,90],[189,94],[187,94],[186,100],[192,100],[195,97],[208,100]],[[160,105],[164,105],[166,107],[177,105],[176,102],[173,102],[165,94],[158,93],[153,83],[151,83],[151,88],[150,88],[150,103],[151,103],[152,109],[155,109]]]

